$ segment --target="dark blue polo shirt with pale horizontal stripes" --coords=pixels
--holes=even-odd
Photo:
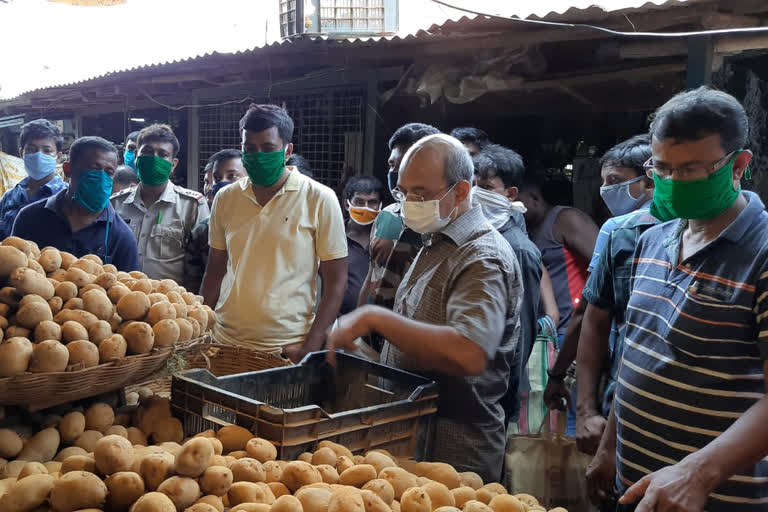
[[[617,487],[706,446],[763,397],[768,359],[768,213],[757,195],[678,264],[686,221],[640,238],[614,407]],[[768,461],[710,494],[708,512],[768,510]]]

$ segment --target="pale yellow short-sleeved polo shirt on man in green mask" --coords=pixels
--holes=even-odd
[[[320,262],[347,256],[336,194],[288,169],[265,206],[248,178],[216,194],[209,243],[229,257],[216,306],[217,342],[265,350],[303,342],[315,319]]]

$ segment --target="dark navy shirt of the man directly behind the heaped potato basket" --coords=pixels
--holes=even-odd
[[[95,254],[104,263],[115,265],[118,270],[138,270],[136,238],[125,221],[115,215],[112,205],[107,204],[107,208],[93,224],[73,233],[69,221],[61,212],[66,192],[66,189],[61,190],[56,195],[22,208],[13,223],[11,234],[31,240],[41,249],[51,246],[78,258]]]

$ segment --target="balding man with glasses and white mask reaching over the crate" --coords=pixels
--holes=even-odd
[[[491,482],[504,460],[501,401],[516,370],[523,285],[512,248],[471,206],[473,175],[469,152],[448,135],[408,150],[394,196],[424,247],[397,289],[394,311],[368,305],[341,317],[328,347],[354,349],[358,337],[376,332],[387,340],[383,363],[437,380],[427,458]]]

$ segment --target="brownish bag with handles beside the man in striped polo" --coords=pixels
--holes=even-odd
[[[509,436],[505,456],[504,486],[510,494],[531,494],[547,509],[564,507],[568,512],[594,512],[587,494],[586,469],[590,457],[579,452],[576,440],[549,432],[549,415],[538,434]]]

